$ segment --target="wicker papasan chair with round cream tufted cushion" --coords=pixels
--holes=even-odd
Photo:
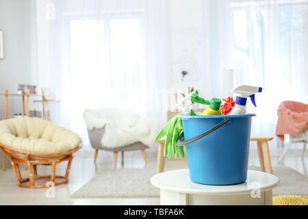
[[[68,182],[73,153],[81,148],[77,134],[41,118],[12,118],[0,121],[0,149],[11,157],[17,185],[44,188],[52,183],[36,184],[36,179],[49,179],[54,185]],[[55,166],[68,161],[65,176],[55,175]],[[24,164],[29,178],[23,179],[19,164]],[[50,176],[38,176],[37,165],[50,165]],[[55,181],[57,179],[57,181]],[[29,183],[25,183],[28,182]]]

